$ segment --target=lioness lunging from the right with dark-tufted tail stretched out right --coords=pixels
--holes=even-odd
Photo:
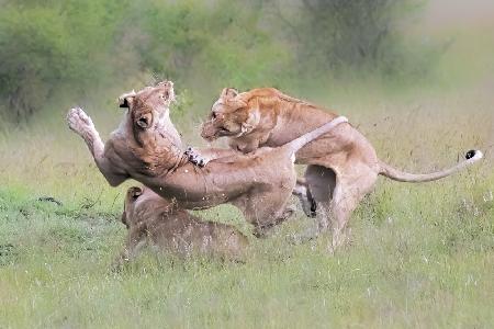
[[[259,147],[278,147],[311,132],[337,114],[317,105],[283,94],[274,88],[252,89],[239,93],[225,88],[213,104],[201,136],[213,141],[228,139],[229,147],[243,154]],[[192,155],[202,164],[214,159],[209,152]],[[311,239],[332,227],[330,250],[346,238],[351,213],[368,194],[379,174],[401,182],[435,181],[460,171],[482,158],[482,152],[467,152],[467,160],[457,166],[427,174],[400,171],[384,163],[369,140],[351,124],[335,129],[308,143],[296,152],[296,163],[308,164],[304,179],[300,179],[294,194],[306,196],[304,211],[317,217],[317,229],[301,239]],[[207,166],[205,167],[207,168]]]

